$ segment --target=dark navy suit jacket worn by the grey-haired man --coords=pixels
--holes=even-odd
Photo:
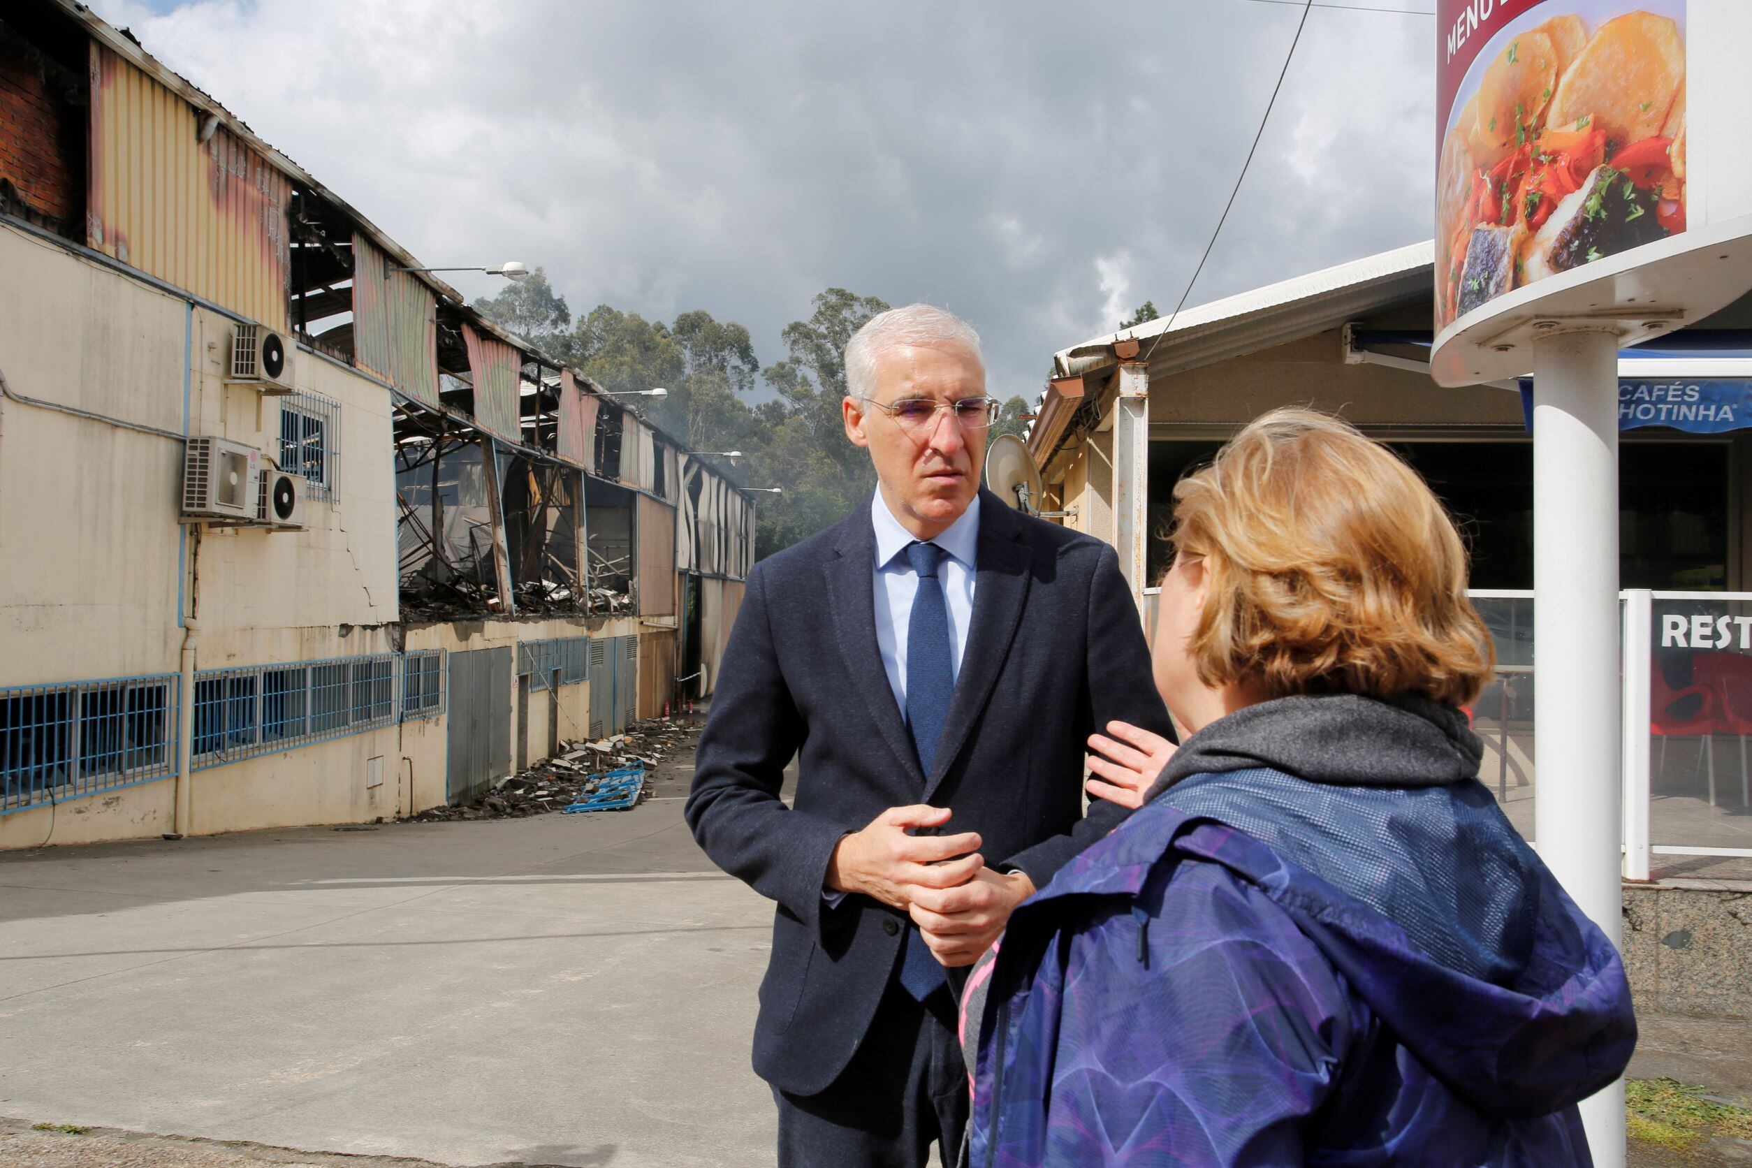
[[[1114,718],[1172,734],[1111,546],[986,492],[972,625],[936,765],[923,774],[876,648],[869,508],[748,574],[687,821],[706,855],[778,902],[760,984],[755,1072],[825,1089],[869,1028],[895,968],[902,912],[822,900],[834,844],[888,807],[936,804],[978,832],[988,865],[1044,888],[1125,811],[1083,816],[1084,739]],[[792,807],[780,800],[799,756]]]

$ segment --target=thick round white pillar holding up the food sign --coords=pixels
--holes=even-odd
[[[1540,858],[1619,942],[1619,338],[1533,347],[1533,834]],[[1598,1168],[1624,1164],[1624,1084],[1582,1101]]]

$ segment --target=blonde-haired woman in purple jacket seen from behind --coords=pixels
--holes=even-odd
[[[1493,667],[1430,489],[1279,410],[1174,490],[1172,744],[1090,741],[1141,809],[964,996],[964,1163],[1589,1164],[1624,967],[1477,781]]]

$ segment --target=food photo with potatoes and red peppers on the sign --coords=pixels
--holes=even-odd
[[[1445,0],[1437,329],[1685,229],[1685,0]]]

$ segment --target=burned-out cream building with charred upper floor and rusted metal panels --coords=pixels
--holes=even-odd
[[[0,848],[412,814],[711,692],[745,496],[424,266],[0,12]]]

